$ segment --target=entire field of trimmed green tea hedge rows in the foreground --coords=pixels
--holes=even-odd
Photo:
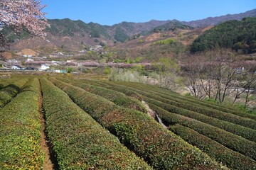
[[[256,169],[256,116],[233,108],[100,79],[11,78],[0,94],[0,169],[46,167],[44,126],[53,169]]]

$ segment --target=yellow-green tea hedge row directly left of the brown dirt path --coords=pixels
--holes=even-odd
[[[0,112],[0,169],[42,169],[38,79],[31,79]]]

